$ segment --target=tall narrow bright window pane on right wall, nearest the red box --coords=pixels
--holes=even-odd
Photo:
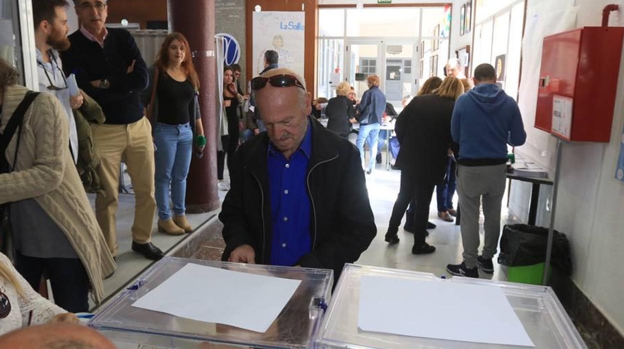
[[[509,24],[509,51],[507,52],[507,73],[505,92],[513,99],[518,97],[520,83],[520,50],[522,49],[522,19],[524,17],[524,1],[514,5]]]

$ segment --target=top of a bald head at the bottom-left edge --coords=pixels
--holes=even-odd
[[[0,348],[12,349],[115,349],[92,328],[70,323],[31,326],[0,337]]]

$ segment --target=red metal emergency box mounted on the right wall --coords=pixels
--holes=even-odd
[[[609,142],[624,27],[544,38],[535,127],[578,142]]]

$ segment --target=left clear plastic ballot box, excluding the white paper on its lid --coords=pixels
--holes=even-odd
[[[177,317],[132,307],[188,263],[278,278],[301,280],[293,297],[265,333]],[[88,323],[125,348],[311,348],[326,302],[333,271],[271,267],[210,260],[165,257],[140,275],[134,284],[103,305]],[[240,285],[238,285],[240,287]],[[247,287],[247,285],[245,285]],[[253,285],[248,285],[253,289]],[[180,289],[178,297],[184,297]],[[223,295],[227,297],[227,295]],[[166,299],[162,302],[167,302]]]

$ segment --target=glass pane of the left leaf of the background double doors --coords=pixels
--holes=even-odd
[[[349,84],[354,87],[356,96],[362,97],[364,91],[368,89],[366,86],[366,77],[368,74],[374,74],[376,59],[379,56],[378,46],[376,44],[352,44],[349,45]],[[365,58],[365,59],[364,59]],[[361,62],[368,61],[368,66],[363,66]],[[366,69],[366,71],[364,71]]]

